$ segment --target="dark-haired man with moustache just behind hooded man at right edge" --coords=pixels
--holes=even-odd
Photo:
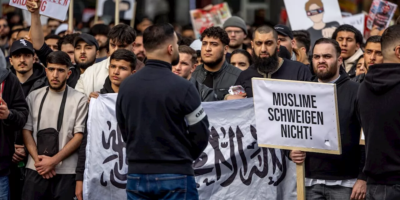
[[[365,43],[364,62],[365,62],[365,73],[362,73],[351,80],[357,83],[364,81],[365,75],[368,73],[368,69],[371,65],[383,63],[383,55],[380,47],[381,36],[371,36]]]

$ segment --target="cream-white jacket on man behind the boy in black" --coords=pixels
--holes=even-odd
[[[84,73],[79,77],[76,83],[75,90],[84,93],[89,97],[90,93],[100,91],[103,88],[104,82],[108,77],[108,66],[110,65],[110,57],[99,62],[94,63],[88,67]]]

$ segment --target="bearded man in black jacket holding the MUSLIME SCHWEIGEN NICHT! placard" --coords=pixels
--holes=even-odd
[[[366,176],[362,173],[364,148],[359,145],[361,126],[356,112],[360,84],[350,81],[340,70],[342,57],[338,42],[328,38],[316,41],[312,62],[313,82],[335,83],[342,154],[306,153],[290,150],[289,158],[301,163],[305,159],[307,200],[362,200],[366,193]]]

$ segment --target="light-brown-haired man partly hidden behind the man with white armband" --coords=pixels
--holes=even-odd
[[[189,46],[181,45],[179,46],[179,63],[172,66],[172,72],[193,83],[200,94],[201,101],[217,101],[213,89],[199,83],[192,77],[192,73],[196,69],[196,60],[196,51]]]

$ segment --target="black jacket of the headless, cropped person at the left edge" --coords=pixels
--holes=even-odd
[[[10,115],[0,120],[0,176],[9,173],[14,154],[15,132],[24,128],[28,120],[28,104],[18,78],[10,69],[0,68],[0,83],[4,81],[3,99]]]

